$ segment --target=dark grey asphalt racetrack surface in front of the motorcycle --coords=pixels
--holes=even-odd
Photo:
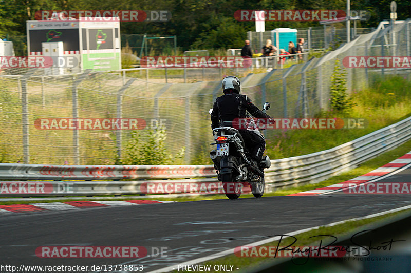
[[[2,264],[17,267],[141,264],[148,272],[275,235],[409,204],[409,195],[336,194],[10,214],[0,218],[0,257]],[[161,247],[167,252],[162,257],[137,259],[39,258],[35,255],[39,246],[144,246],[148,255],[153,251],[155,256]]]

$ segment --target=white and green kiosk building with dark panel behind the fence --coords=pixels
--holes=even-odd
[[[29,56],[74,57],[74,67],[61,64],[57,74],[80,70],[121,69],[120,22],[101,17],[27,21]],[[56,74],[56,73],[53,73]]]

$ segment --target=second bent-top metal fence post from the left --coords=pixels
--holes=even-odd
[[[77,121],[79,118],[79,92],[77,87],[80,83],[88,76],[88,73],[91,69],[85,70],[79,77],[73,82],[73,86],[71,88],[71,96],[72,96],[72,103],[73,103],[73,119]],[[74,165],[80,165],[80,140],[79,140],[79,124],[76,124],[76,129],[73,130],[73,158],[74,158]]]

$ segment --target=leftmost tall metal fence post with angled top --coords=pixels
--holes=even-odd
[[[22,99],[22,131],[23,131],[23,162],[30,163],[30,140],[29,140],[29,99],[27,96],[27,79],[35,72],[29,69],[20,81]]]

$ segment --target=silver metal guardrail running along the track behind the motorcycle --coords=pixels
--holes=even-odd
[[[271,160],[271,167],[266,171],[266,191],[270,192],[276,188],[315,183],[342,171],[353,169],[359,163],[393,149],[411,139],[410,130],[411,117],[408,117],[388,127],[329,150]],[[147,183],[181,185],[215,183],[215,188],[220,188],[221,183],[218,182],[215,176],[213,165],[73,166],[0,164],[0,180],[2,180],[0,185],[4,183],[43,183],[50,188],[54,187],[54,192],[49,191],[49,193],[16,194],[4,193],[0,186],[0,197],[145,194],[147,193]],[[138,179],[141,181],[100,181],[120,179]],[[27,180],[43,181],[29,182]],[[63,182],[62,180],[71,180],[72,182]],[[76,191],[56,194],[55,189],[59,185],[67,186],[68,184],[74,187]],[[186,191],[180,189],[173,193],[183,192]]]

